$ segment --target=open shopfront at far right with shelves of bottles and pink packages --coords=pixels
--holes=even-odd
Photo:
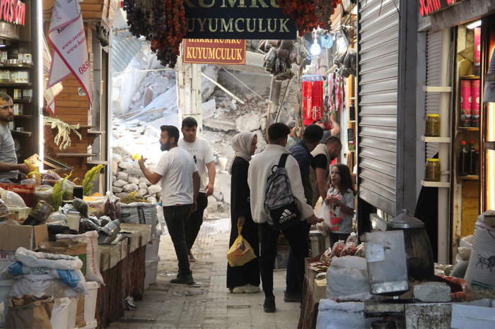
[[[492,105],[484,99],[484,85],[489,85],[495,6],[457,1],[421,8],[418,58],[426,59],[426,66],[418,73],[424,86],[418,92],[417,147],[423,153],[417,155],[417,175],[438,152],[438,181],[421,178],[421,185],[438,188],[438,217],[431,218],[438,218],[438,260],[449,263],[460,238],[473,234],[478,215],[494,208],[493,157],[485,143],[493,140]],[[433,134],[423,130],[423,120],[432,117],[440,121]]]

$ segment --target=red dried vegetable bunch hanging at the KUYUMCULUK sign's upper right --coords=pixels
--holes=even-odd
[[[337,8],[342,0],[277,0],[277,2],[284,8],[286,15],[292,16],[302,37],[305,32],[312,32],[318,26],[325,28],[327,22],[330,22],[334,8]]]

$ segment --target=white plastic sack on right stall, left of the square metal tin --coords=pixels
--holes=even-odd
[[[366,258],[333,258],[327,270],[327,298],[369,292]]]

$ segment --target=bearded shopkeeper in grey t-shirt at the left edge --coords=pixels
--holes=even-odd
[[[17,179],[19,171],[28,174],[25,163],[18,164],[13,138],[8,123],[13,121],[13,102],[9,95],[0,92],[0,179]]]

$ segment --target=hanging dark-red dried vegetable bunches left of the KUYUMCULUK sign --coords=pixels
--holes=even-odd
[[[129,31],[151,41],[151,50],[163,66],[174,68],[185,36],[185,11],[181,0],[124,0]]]

